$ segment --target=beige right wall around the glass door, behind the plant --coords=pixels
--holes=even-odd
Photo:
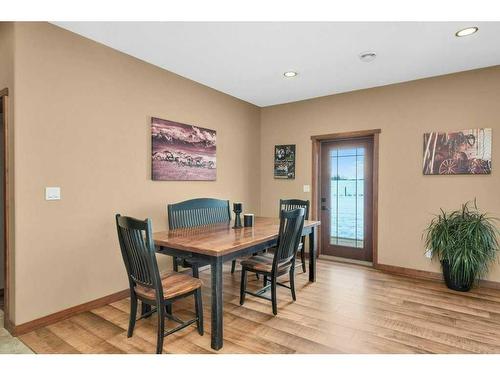
[[[333,95],[262,109],[261,213],[276,215],[279,198],[310,199],[311,135],[382,129],[379,174],[379,263],[438,271],[424,257],[421,233],[440,207],[477,198],[500,217],[500,67]],[[493,128],[489,176],[423,176],[423,133]],[[275,144],[297,144],[296,179],[273,179]],[[489,275],[500,281],[498,264]]]

